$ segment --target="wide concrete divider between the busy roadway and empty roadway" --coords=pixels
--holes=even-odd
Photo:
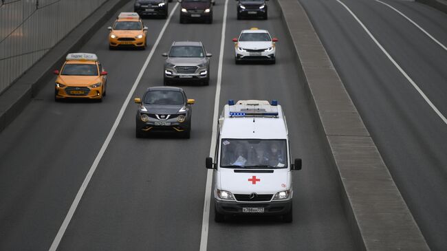
[[[298,0],[276,1],[360,250],[430,250]]]

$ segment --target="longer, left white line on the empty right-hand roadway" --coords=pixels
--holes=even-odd
[[[439,116],[439,118],[441,118],[442,121],[444,121],[445,124],[447,124],[447,119],[446,117],[444,117],[444,115],[442,115],[442,113],[435,107],[435,105],[433,105],[433,102],[431,102],[428,97],[424,94],[424,91],[422,91],[417,85],[416,83],[413,81],[413,79],[410,78],[410,76],[408,76],[408,74],[406,74],[406,72],[404,72],[404,70],[402,69],[402,67],[400,67],[400,65],[398,65],[396,63],[396,61],[390,56],[390,54],[388,52],[386,52],[386,50],[384,49],[384,47],[377,41],[377,39],[375,39],[375,37],[373,36],[373,34],[371,34],[371,32],[369,32],[369,30],[367,29],[366,26],[364,26],[364,24],[362,23],[362,21],[360,21],[360,19],[358,19],[358,17],[356,16],[356,14],[354,14],[346,5],[345,3],[342,3],[340,0],[337,0],[338,3],[340,3],[342,6],[345,7],[345,9],[352,15],[352,17],[354,19],[356,19],[356,21],[362,26],[363,30],[365,32],[367,32],[367,34],[371,37],[371,39],[374,41],[374,43],[380,48],[380,50],[382,50],[382,52],[386,55],[386,57],[388,57],[388,59],[391,61],[391,63],[393,63],[393,65],[399,70],[399,72],[404,75],[404,77],[408,80],[408,82],[411,83],[411,85],[413,85],[413,87],[416,89],[417,92],[419,92],[419,95],[422,96],[422,98],[424,98],[424,100],[428,103],[428,105],[430,105],[431,109],[433,109],[433,111],[435,111],[435,113],[437,114],[437,116]]]

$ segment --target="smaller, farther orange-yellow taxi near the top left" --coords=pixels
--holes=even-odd
[[[137,47],[146,49],[147,27],[135,12],[121,12],[109,28],[109,49]]]

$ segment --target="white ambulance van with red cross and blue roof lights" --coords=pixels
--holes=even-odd
[[[277,100],[228,100],[218,120],[213,169],[215,221],[228,215],[282,215],[293,220],[287,123]]]

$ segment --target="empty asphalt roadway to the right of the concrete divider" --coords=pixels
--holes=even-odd
[[[447,114],[447,52],[376,1],[341,0]],[[432,250],[446,250],[447,125],[337,1],[300,1]],[[408,1],[384,1],[443,45],[447,16]]]

